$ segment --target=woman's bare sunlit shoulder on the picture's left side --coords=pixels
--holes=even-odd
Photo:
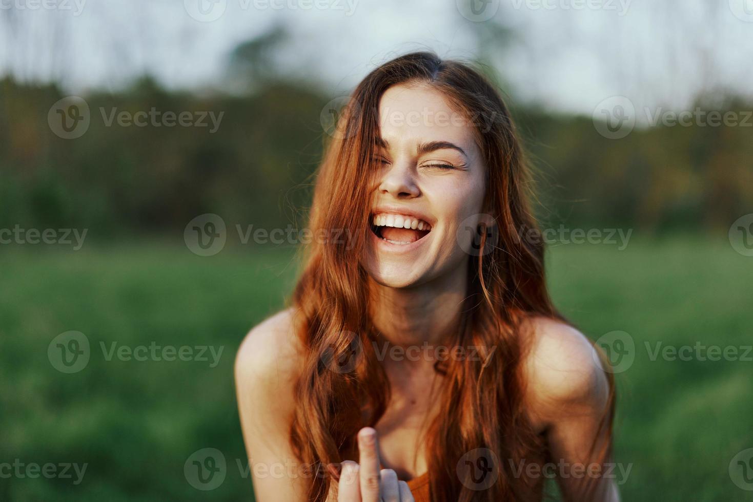
[[[278,405],[291,403],[301,359],[293,309],[283,310],[262,321],[248,332],[236,354],[235,379],[239,400],[274,397]]]

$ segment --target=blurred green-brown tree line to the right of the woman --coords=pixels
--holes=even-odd
[[[741,123],[753,110],[742,99],[705,103],[699,99],[691,110],[732,111]],[[538,109],[516,115],[538,174],[541,217],[552,225],[714,230],[751,211],[751,125],[636,126],[609,139],[591,117]]]

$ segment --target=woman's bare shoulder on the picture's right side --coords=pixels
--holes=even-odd
[[[568,411],[602,412],[609,383],[593,343],[555,319],[536,317],[527,324],[523,371],[535,421],[545,423]]]

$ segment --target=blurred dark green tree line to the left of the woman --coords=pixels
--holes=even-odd
[[[205,212],[228,225],[277,225],[305,204],[321,156],[322,96],[276,82],[250,96],[169,93],[144,78],[84,97],[90,126],[64,139],[47,124],[55,86],[0,81],[0,226],[92,227],[98,233],[182,228]],[[209,126],[105,125],[100,108],[163,114],[224,111]],[[194,115],[199,120],[200,114]]]

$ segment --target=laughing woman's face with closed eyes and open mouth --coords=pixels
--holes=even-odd
[[[468,228],[480,218],[485,167],[474,127],[438,91],[390,87],[379,111],[380,170],[364,267],[379,284],[405,288],[467,262]]]

